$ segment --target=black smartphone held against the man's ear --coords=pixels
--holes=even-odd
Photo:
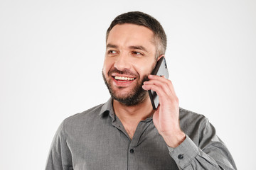
[[[169,79],[169,72],[167,69],[166,60],[164,57],[161,57],[156,63],[156,67],[153,69],[152,75],[164,76],[166,79]],[[151,104],[153,109],[159,106],[159,96],[157,96],[156,91],[149,90],[149,98],[151,100]]]

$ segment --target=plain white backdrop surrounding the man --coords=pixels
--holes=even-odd
[[[168,37],[180,106],[206,115],[255,169],[256,1],[0,1],[0,169],[44,169],[61,121],[110,97],[105,31],[144,11]]]

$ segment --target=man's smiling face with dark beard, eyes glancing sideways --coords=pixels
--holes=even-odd
[[[156,64],[154,33],[125,23],[112,28],[107,38],[102,75],[112,97],[134,106],[148,96],[142,84]]]

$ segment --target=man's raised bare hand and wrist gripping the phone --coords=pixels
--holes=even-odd
[[[173,84],[164,77],[149,75],[149,81],[145,81],[142,88],[156,91],[159,107],[153,115],[154,125],[169,147],[178,147],[186,135],[179,126],[178,98]]]

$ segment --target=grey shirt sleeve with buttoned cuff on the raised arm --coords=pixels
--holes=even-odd
[[[215,134],[215,128],[208,120],[199,132],[198,145],[186,135],[181,145],[169,147],[169,153],[179,169],[236,169],[235,162],[225,144]],[[192,135],[193,136],[193,135]]]

